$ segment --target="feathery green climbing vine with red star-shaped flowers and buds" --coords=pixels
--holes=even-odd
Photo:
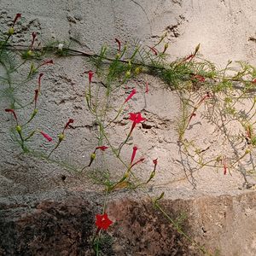
[[[231,67],[229,61],[223,69],[218,70],[212,62],[204,60],[200,55],[200,44],[195,50],[183,58],[176,61],[168,61],[168,43],[166,36],[162,36],[156,44],[143,46],[135,44],[133,46],[122,44],[115,38],[117,49],[109,49],[103,46],[99,54],[91,54],[78,49],[72,49],[65,42],[53,42],[48,45],[36,44],[37,34],[32,33],[30,44],[15,44],[12,38],[15,37],[17,22],[20,14],[15,16],[15,20],[9,27],[8,32],[3,32],[0,41],[0,64],[3,68],[1,81],[1,97],[9,99],[9,106],[6,106],[6,115],[14,120],[10,128],[10,136],[14,143],[20,146],[20,152],[29,156],[59,164],[68,170],[78,173],[86,172],[92,168],[99,155],[111,154],[119,161],[123,171],[119,177],[112,177],[106,167],[101,177],[96,177],[102,184],[106,193],[106,201],[102,207],[102,214],[96,215],[96,233],[92,239],[92,244],[96,255],[100,255],[100,244],[103,230],[108,230],[108,226],[113,222],[106,213],[106,202],[108,196],[113,191],[119,189],[140,189],[146,193],[148,183],[150,183],[158,171],[158,159],[149,161],[151,172],[146,180],[137,177],[134,170],[145,158],[140,155],[139,147],[133,143],[132,135],[137,130],[137,126],[145,123],[147,118],[143,112],[129,113],[128,104],[132,104],[135,95],[143,97],[135,88],[124,90],[125,84],[135,79],[138,75],[148,74],[157,77],[165,82],[166,88],[176,93],[180,99],[180,117],[177,121],[177,145],[181,155],[183,165],[190,183],[196,186],[193,177],[194,172],[199,172],[201,168],[208,166],[216,170],[222,170],[224,175],[232,172],[241,172],[244,177],[243,184],[249,189],[253,183],[248,181],[248,177],[255,175],[254,156],[256,147],[255,133],[255,86],[256,68],[245,63],[236,62],[236,69]],[[114,53],[113,53],[114,52]],[[97,144],[88,156],[84,166],[71,166],[61,160],[55,159],[60,145],[65,143],[68,137],[68,130],[76,122],[72,117],[63,120],[60,132],[54,140],[47,131],[40,127],[35,128],[33,122],[38,116],[38,101],[44,94],[42,84],[44,83],[44,71],[49,65],[54,65],[55,61],[46,59],[45,56],[55,56],[58,58],[72,55],[81,55],[89,61],[92,70],[87,70],[84,74],[86,85],[84,88],[84,104],[94,118],[97,127]],[[237,70],[237,65],[239,69]],[[25,78],[19,81],[13,79],[13,75],[20,72],[26,73]],[[26,68],[27,67],[27,68]],[[37,80],[31,99],[26,104],[20,102],[16,91],[20,84]],[[94,79],[99,83],[93,84]],[[150,91],[148,81],[144,81],[144,95]],[[112,97],[115,93],[124,91],[124,100],[119,106],[112,105]],[[29,116],[24,117],[24,108],[31,108]],[[114,113],[114,114],[113,114]],[[130,128],[124,137],[119,138],[119,144],[112,142],[108,136],[109,131],[120,119],[128,119]],[[189,131],[194,129],[195,122],[211,125],[212,135],[220,137],[222,143],[208,143],[206,148],[201,148],[197,143],[197,138],[191,136]],[[234,129],[234,126],[237,129]],[[45,152],[38,152],[33,148],[33,138],[36,135],[52,143]],[[200,139],[200,138],[198,138]],[[218,144],[217,144],[218,143]],[[213,149],[212,149],[213,148]],[[215,150],[218,148],[219,150]],[[17,150],[19,148],[17,147]],[[131,155],[131,160],[123,158],[123,152]],[[214,154],[217,152],[217,154]],[[138,156],[139,155],[139,156]],[[106,158],[104,158],[106,159]],[[107,164],[108,165],[108,164]],[[64,177],[63,177],[64,178]],[[149,195],[148,195],[149,196]],[[157,198],[150,198],[154,207],[173,224],[173,227],[185,238],[198,247],[202,253],[208,253],[204,247],[189,238],[177,223],[160,206],[162,193]]]

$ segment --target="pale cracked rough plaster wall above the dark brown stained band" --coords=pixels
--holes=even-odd
[[[143,44],[150,45],[167,32],[167,39],[171,43],[168,49],[171,59],[187,55],[195,49],[195,45],[201,43],[201,54],[220,66],[224,66],[228,60],[250,61],[255,64],[256,18],[253,13],[256,3],[253,0],[54,2],[2,0],[0,9],[1,30],[8,27],[6,24],[10,24],[16,13],[21,13],[24,17],[16,37],[16,42],[19,44],[27,42],[30,34],[37,32],[43,42],[66,40],[71,41],[74,48],[98,52],[105,43],[115,48],[114,38],[119,38],[122,42],[140,40]],[[40,111],[33,125],[47,131],[56,141],[56,135],[67,119],[73,118],[74,129],[68,129],[66,141],[61,144],[54,157],[56,160],[64,159],[80,168],[88,164],[90,153],[96,146],[97,127],[84,104],[84,84],[87,78],[83,73],[84,70],[89,70],[90,66],[78,56],[54,61],[54,66],[44,67],[42,70],[44,79],[42,95],[38,102]],[[146,125],[144,127],[138,125],[132,137],[132,143],[136,143],[139,147],[138,156],[146,157],[143,164],[136,169],[138,177],[148,178],[152,171],[150,166],[152,160],[159,159],[158,173],[148,186],[148,191],[152,195],[159,195],[164,190],[166,198],[170,200],[227,194],[240,198],[239,196],[242,196],[240,194],[247,192],[242,186],[244,181],[240,172],[232,172],[232,176],[224,177],[222,170],[204,168],[195,171],[193,179],[186,177],[189,173],[185,173],[180,164],[181,159],[177,154],[177,131],[174,129],[180,114],[179,99],[174,92],[166,90],[165,84],[160,80],[149,76],[146,79],[150,88],[146,96],[143,95],[145,77],[128,84],[130,87],[136,87],[139,93],[131,101],[126,113],[142,111],[143,116],[147,118]],[[20,77],[17,76],[16,82],[18,80]],[[36,83],[34,79],[26,86],[18,84],[19,90],[16,96],[21,103],[26,103],[28,98],[32,98]],[[97,84],[96,79],[94,84]],[[112,103],[118,105],[124,99],[124,91],[119,90]],[[8,108],[9,103],[8,98],[2,97],[0,108]],[[17,113],[22,119],[30,115],[31,111],[32,109],[27,108],[25,112],[17,111]],[[49,163],[35,157],[20,155],[17,145],[12,143],[9,137],[9,127],[14,125],[13,120],[3,111],[0,112],[0,119],[3,120],[0,126],[0,195],[3,198],[45,191],[49,193],[55,189],[60,191],[99,189],[88,177],[95,172],[102,172],[104,165],[101,157],[98,158],[96,166],[90,170],[86,169],[83,173],[77,173],[54,162]],[[109,136],[113,142],[118,143],[124,132],[129,132],[130,127],[131,122],[128,119],[120,118],[109,129]],[[213,145],[211,150],[214,153],[218,150],[218,140],[211,137],[211,132],[212,126],[207,124],[207,121],[195,119],[189,136],[198,139],[202,148],[207,148],[209,143]],[[49,148],[49,143],[43,143],[39,135],[34,144],[38,149]],[[122,156],[125,160],[130,160],[131,151],[132,145],[123,148]],[[111,175],[121,177],[122,171],[119,171],[121,166],[111,159],[108,152],[106,156],[111,160],[109,163]],[[62,182],[61,175],[67,176],[65,182]],[[55,198],[54,194],[50,195]],[[123,196],[125,195],[120,195]],[[216,198],[218,201],[222,197]],[[238,199],[235,197],[234,201]],[[193,201],[193,204],[197,204],[197,201]],[[249,201],[248,205],[250,205]],[[255,206],[248,207],[251,207],[252,211],[255,209]],[[211,213],[208,211],[206,214]],[[206,221],[211,224],[210,220]],[[246,218],[244,221],[246,223]],[[227,233],[221,233],[223,234],[221,237],[219,230],[212,229],[212,233],[218,234],[219,239],[223,241],[224,236],[230,236],[228,233],[232,232],[229,227],[226,226]],[[234,230],[236,227],[239,225],[235,226]],[[247,241],[251,241],[252,236],[251,230],[237,232],[233,238],[235,240],[236,237],[238,241],[246,237]],[[216,243],[212,245],[207,239],[205,242],[212,248],[216,245]],[[226,245],[220,242],[219,247],[221,251],[227,252],[225,250],[229,250],[232,246],[231,243]],[[244,251],[247,254],[238,251],[237,255],[254,255],[253,246],[250,249],[248,245]]]

